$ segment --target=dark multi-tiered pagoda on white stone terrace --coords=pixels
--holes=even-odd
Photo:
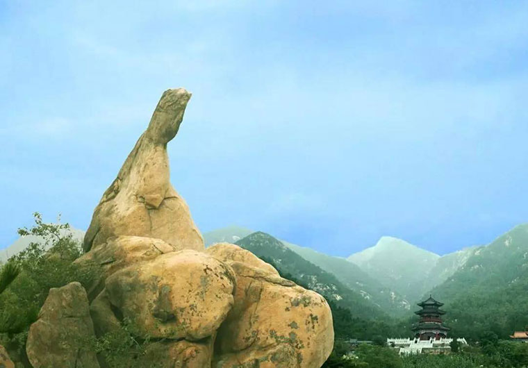
[[[440,338],[447,337],[447,331],[449,328],[443,324],[442,315],[445,312],[440,309],[443,303],[433,299],[433,296],[429,295],[429,299],[418,303],[418,306],[422,307],[421,310],[415,312],[416,315],[420,316],[418,324],[414,324],[411,330],[415,333],[415,338],[420,340],[440,340]]]

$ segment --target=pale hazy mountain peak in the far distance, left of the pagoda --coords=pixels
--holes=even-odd
[[[436,266],[438,254],[418,248],[396,237],[381,237],[376,245],[352,254],[352,262],[382,285],[402,294],[409,301],[420,299],[424,278]],[[420,285],[420,287],[417,287]]]

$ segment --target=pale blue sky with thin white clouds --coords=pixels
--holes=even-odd
[[[528,222],[525,1],[0,1],[0,249],[85,230],[164,90],[202,232],[439,254]]]

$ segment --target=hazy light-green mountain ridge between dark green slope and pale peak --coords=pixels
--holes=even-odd
[[[305,260],[334,274],[349,289],[358,292],[363,298],[372,301],[389,315],[398,316],[409,312],[411,304],[397,292],[390,290],[369,276],[360,267],[345,258],[332,257],[310,248],[283,242],[288,248]]]

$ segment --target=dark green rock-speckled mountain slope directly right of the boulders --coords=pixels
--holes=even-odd
[[[281,274],[294,276],[329,301],[348,308],[356,317],[367,319],[386,317],[381,308],[372,301],[350,290],[336,276],[308,262],[271,235],[258,231],[238,240],[235,244],[251,251],[259,258],[272,262]]]

